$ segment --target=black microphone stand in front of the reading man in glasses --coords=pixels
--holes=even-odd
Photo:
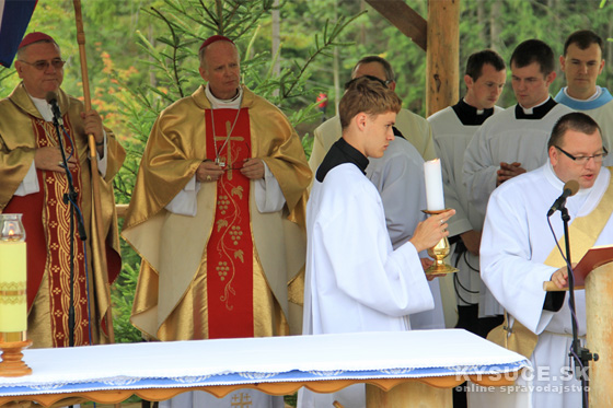
[[[570,260],[570,237],[568,236],[568,221],[570,221],[570,215],[568,215],[568,210],[565,205],[560,206],[559,209],[562,221],[564,223],[564,243],[566,245],[566,268],[568,271],[568,303],[570,306],[570,323],[572,327],[572,346],[568,355],[575,361],[575,368],[577,369],[577,362],[580,364],[580,372],[575,376],[581,381],[581,400],[583,408],[588,408],[588,398],[586,395],[586,389],[589,386],[589,362],[592,360],[593,355],[590,351],[582,347],[579,342],[579,336],[577,334],[577,310],[575,307],[575,276],[572,275],[571,260]],[[578,360],[578,361],[577,361]]]

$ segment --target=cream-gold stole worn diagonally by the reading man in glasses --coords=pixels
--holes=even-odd
[[[570,250],[572,252],[571,259],[581,259],[583,255],[586,255],[611,218],[611,213],[613,212],[612,186],[613,177],[609,180],[609,187],[606,191],[604,191],[598,207],[589,214],[576,218],[568,228],[568,234],[572,237],[570,242]],[[558,245],[564,247],[564,235],[559,238]],[[557,245],[554,246],[544,264],[556,268],[565,265],[565,260]],[[539,335],[528,329],[518,319],[514,319],[513,326],[509,327],[509,316],[507,311],[505,311],[505,322],[502,322],[500,326],[491,329],[487,335],[487,339],[530,359],[539,342]]]

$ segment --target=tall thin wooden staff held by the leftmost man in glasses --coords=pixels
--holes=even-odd
[[[73,0],[74,3],[74,19],[77,21],[77,43],[79,43],[79,56],[81,57],[81,77],[83,79],[83,98],[85,102],[85,112],[92,108],[90,96],[90,80],[88,78],[88,57],[85,55],[85,33],[83,32],[83,16],[81,14],[81,0]],[[97,230],[97,250],[100,254],[100,263],[102,266],[102,275],[105,281],[106,298],[108,299],[108,307],[106,310],[106,328],[108,330],[108,339],[115,342],[115,330],[113,329],[113,307],[111,306],[111,282],[108,281],[108,268],[106,266],[106,247],[104,240],[104,228],[102,224],[102,207],[100,200],[100,179],[97,177],[97,161],[96,161],[96,147],[95,138],[92,133],[88,135],[90,147],[90,165],[92,171],[92,189],[93,200],[92,207],[94,209],[94,222]]]

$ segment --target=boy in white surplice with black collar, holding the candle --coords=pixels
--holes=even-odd
[[[401,100],[380,81],[352,80],[339,104],[343,137],[317,168],[307,211],[303,335],[398,331],[409,314],[435,306],[419,252],[447,231],[449,210],[417,224],[395,250],[368,158],[381,158],[394,139]],[[335,394],[302,392],[302,407],[365,406],[363,385]]]

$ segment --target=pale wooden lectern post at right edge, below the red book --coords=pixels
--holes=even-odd
[[[613,407],[613,264],[597,268],[586,279],[587,347],[598,353],[590,361],[590,406]]]

